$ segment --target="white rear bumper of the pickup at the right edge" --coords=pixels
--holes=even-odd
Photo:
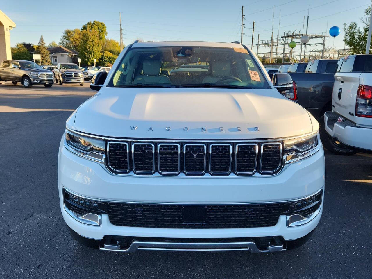
[[[356,126],[344,117],[344,120],[337,122],[339,114],[335,112],[324,113],[325,131],[333,137],[350,147],[372,150],[372,128]]]

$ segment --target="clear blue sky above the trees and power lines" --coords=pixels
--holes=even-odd
[[[23,41],[37,44],[41,35],[47,44],[51,41],[58,44],[65,29],[80,29],[84,23],[93,20],[104,22],[107,26],[107,37],[119,41],[119,12],[125,45],[136,39],[240,41],[243,5],[246,26],[243,43],[248,47],[251,46],[253,20],[253,44],[256,44],[258,34],[260,40],[270,39],[272,28],[274,38],[289,31],[297,30],[302,33],[302,30],[306,29],[306,22],[303,28],[304,17],[309,15],[308,33],[327,31],[329,35],[331,26],[340,27],[341,33],[334,39],[334,46],[342,49],[343,24],[356,21],[361,25],[360,17],[364,15],[364,10],[371,4],[371,0],[89,0],[67,1],[61,5],[51,3],[50,0],[39,0],[37,4],[29,0],[0,0],[0,9],[17,25],[10,31],[12,47]],[[333,38],[330,37],[326,41],[326,47],[332,46]],[[314,48],[321,48],[321,45]],[[256,50],[254,46],[253,51]],[[266,51],[269,51],[269,48]]]

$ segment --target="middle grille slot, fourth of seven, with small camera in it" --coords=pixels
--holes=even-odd
[[[185,144],[183,146],[183,169],[185,174],[204,174],[205,162],[205,144]]]

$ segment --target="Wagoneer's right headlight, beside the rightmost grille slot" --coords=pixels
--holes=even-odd
[[[319,132],[302,138],[284,141],[285,163],[308,157],[318,150],[320,145]]]

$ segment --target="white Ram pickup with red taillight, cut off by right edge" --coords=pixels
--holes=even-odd
[[[358,54],[337,63],[332,111],[324,114],[328,140],[334,154],[350,155],[372,150],[372,55]]]

